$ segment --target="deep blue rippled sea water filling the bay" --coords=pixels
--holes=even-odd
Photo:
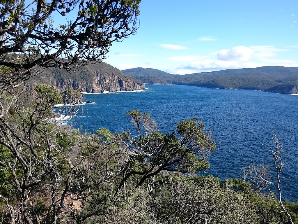
[[[298,96],[250,90],[198,88],[183,85],[146,85],[140,92],[86,94],[97,104],[83,106],[76,127],[111,132],[133,129],[125,111],[136,109],[156,120],[159,130],[170,133],[175,122],[197,116],[210,129],[218,151],[210,157],[212,174],[220,179],[240,177],[241,168],[265,164],[274,171],[272,131],[283,144],[283,199],[298,202]],[[275,175],[272,175],[274,178]]]

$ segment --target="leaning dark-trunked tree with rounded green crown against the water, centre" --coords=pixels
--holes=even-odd
[[[115,136],[119,154],[126,162],[122,165],[122,179],[118,190],[132,176],[138,178],[136,187],[160,172],[178,171],[195,173],[209,168],[208,155],[216,149],[212,136],[197,118],[176,123],[171,134],[159,133],[155,121],[147,114],[132,110],[136,136],[126,132]]]

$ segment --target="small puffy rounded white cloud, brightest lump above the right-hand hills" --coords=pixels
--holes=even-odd
[[[237,46],[218,51],[217,58],[221,61],[248,61],[253,53],[254,51],[249,47]]]

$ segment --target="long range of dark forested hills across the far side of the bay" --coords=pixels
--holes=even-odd
[[[146,73],[150,71],[150,73]],[[221,70],[187,75],[172,75],[155,69],[124,70],[142,82],[151,84],[194,85],[206,88],[263,90],[298,94],[298,67],[266,66]],[[161,82],[164,81],[164,82]]]

